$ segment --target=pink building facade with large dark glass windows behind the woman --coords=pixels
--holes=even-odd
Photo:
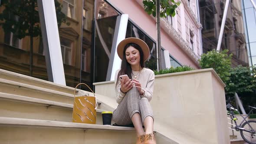
[[[144,11],[142,0],[55,0],[55,7],[66,85],[108,80],[118,16],[123,14],[128,14],[125,37],[143,39],[151,51],[146,67],[157,69],[155,18]],[[42,23],[36,0],[1,3],[0,69],[48,80]],[[201,28],[197,0],[181,0],[176,16],[161,18],[161,52],[168,51],[171,66],[199,68]]]

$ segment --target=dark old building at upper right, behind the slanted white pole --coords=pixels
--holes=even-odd
[[[199,0],[204,53],[217,48],[225,2],[226,0]],[[244,32],[240,0],[230,0],[221,49],[228,49],[233,54],[232,66],[249,65]]]

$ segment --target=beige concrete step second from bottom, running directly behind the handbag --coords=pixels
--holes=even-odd
[[[73,105],[0,92],[2,117],[72,122]],[[96,124],[102,124],[102,111],[96,109]]]

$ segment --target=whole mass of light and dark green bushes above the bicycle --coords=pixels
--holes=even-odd
[[[256,66],[243,67],[241,65],[231,68],[232,54],[228,50],[216,52],[213,49],[203,54],[199,60],[202,69],[213,68],[223,82],[226,84],[226,98],[231,98],[235,105],[234,93],[236,92],[243,102],[246,112],[249,112],[248,105],[256,106]]]

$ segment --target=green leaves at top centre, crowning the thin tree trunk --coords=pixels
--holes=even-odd
[[[175,16],[175,9],[181,4],[180,1],[160,0],[160,17]],[[156,0],[143,0],[144,10],[156,17]]]

